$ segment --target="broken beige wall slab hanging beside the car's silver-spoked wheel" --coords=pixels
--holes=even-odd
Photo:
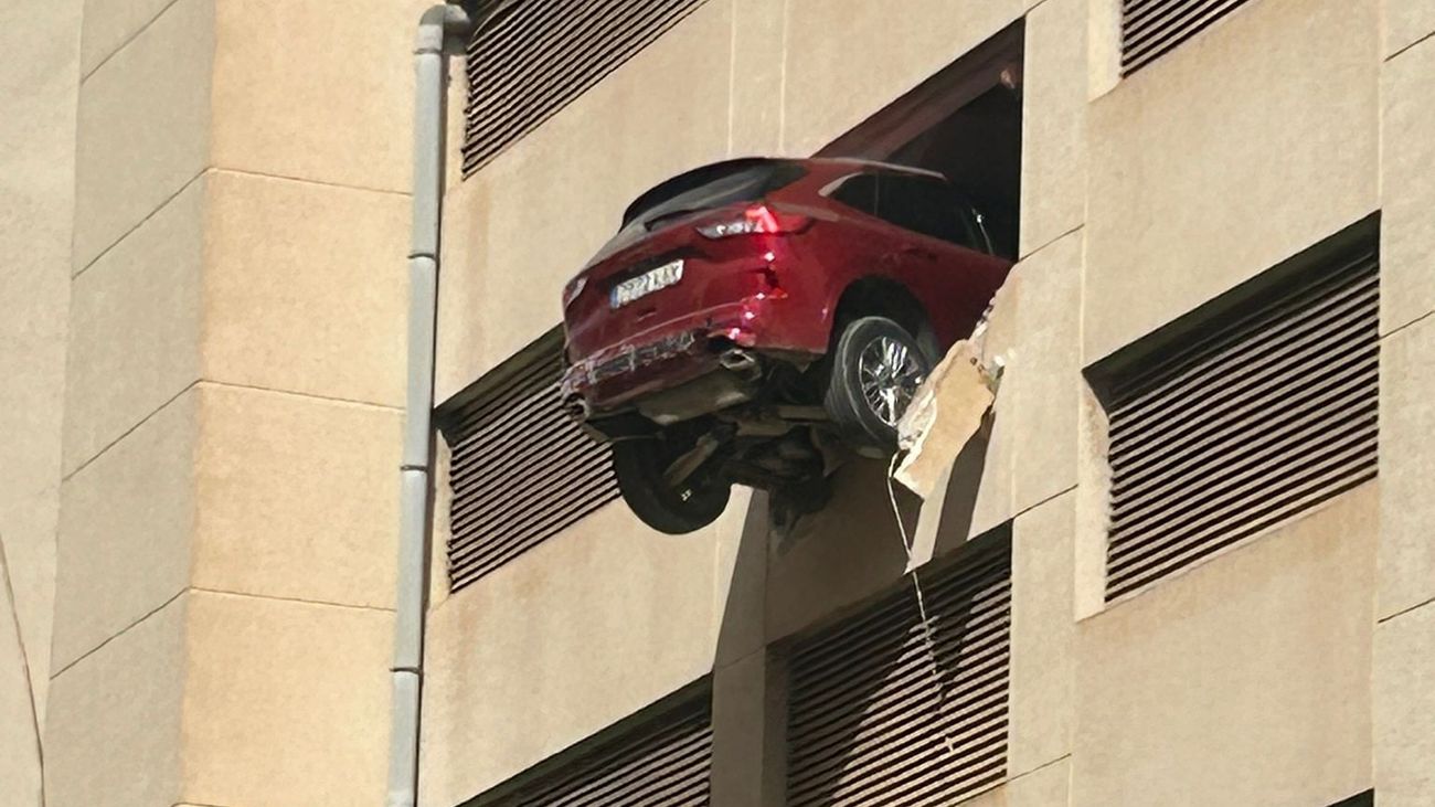
[[[897,424],[904,454],[894,477],[903,487],[924,500],[931,497],[982,428],[982,418],[996,401],[1000,369],[983,366],[980,347],[970,339],[951,346]]]

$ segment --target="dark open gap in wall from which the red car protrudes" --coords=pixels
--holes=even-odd
[[[897,191],[893,204],[877,213],[883,218],[963,244],[984,246],[990,238],[996,254],[1015,260],[1022,201],[1022,57],[1019,20],[818,152],[941,174],[959,207],[980,214],[986,237],[969,231],[976,221],[953,221],[940,213],[950,210],[951,197],[921,177],[893,175],[900,185],[893,188],[885,182],[877,188],[877,179],[851,190],[844,184],[844,195],[835,198],[875,210],[881,205],[877,197]]]

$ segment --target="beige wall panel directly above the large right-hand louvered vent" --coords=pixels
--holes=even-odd
[[[1263,0],[1092,103],[1089,363],[1373,211],[1373,0]]]

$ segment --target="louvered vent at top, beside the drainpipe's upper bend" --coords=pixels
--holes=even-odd
[[[482,168],[706,0],[517,0],[468,45],[464,175]]]

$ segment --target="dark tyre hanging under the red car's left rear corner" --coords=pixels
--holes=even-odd
[[[680,536],[712,524],[732,495],[730,484],[702,471],[676,488],[663,480],[667,467],[690,448],[663,438],[613,444],[613,471],[623,501],[644,524],[660,533]]]

